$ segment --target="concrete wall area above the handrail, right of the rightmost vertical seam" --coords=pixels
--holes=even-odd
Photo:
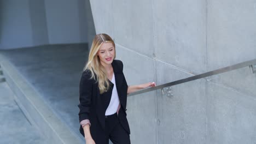
[[[255,3],[208,1],[208,71],[256,58]]]

